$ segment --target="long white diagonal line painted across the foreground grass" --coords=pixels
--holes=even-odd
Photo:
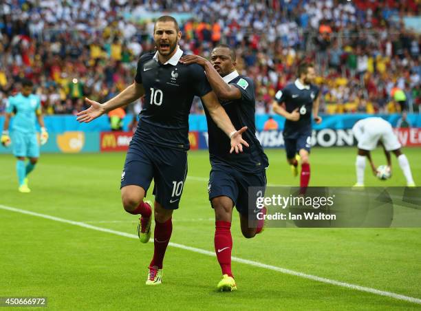
[[[117,230],[111,230],[111,229],[107,229],[107,228],[92,226],[90,224],[85,224],[83,222],[74,222],[73,220],[64,219],[64,218],[55,217],[55,216],[46,215],[46,214],[41,214],[41,213],[35,213],[35,212],[32,212],[32,211],[26,211],[26,210],[23,210],[23,209],[20,209],[20,208],[14,208],[14,207],[10,207],[10,206],[0,204],[0,209],[6,210],[6,211],[12,211],[12,212],[16,212],[16,213],[21,213],[21,214],[26,214],[26,215],[31,215],[31,216],[36,216],[36,217],[41,217],[41,218],[45,218],[45,219],[50,219],[50,220],[54,220],[56,222],[63,222],[65,224],[72,224],[74,226],[80,226],[80,227],[83,227],[83,228],[88,228],[88,229],[91,229],[91,230],[101,231],[101,232],[105,232],[105,233],[111,233],[111,234],[114,234],[114,235],[120,235],[121,237],[130,237],[131,239],[138,239],[137,235],[132,235],[131,233],[125,233],[125,232],[121,232],[121,231],[117,231]],[[149,242],[152,242],[152,241],[153,240],[151,239]],[[177,243],[173,243],[173,242],[170,242],[169,246],[173,246],[175,248],[181,248],[183,250],[190,250],[191,252],[194,252],[194,253],[199,253],[199,254],[215,257],[215,253],[210,252],[209,250],[203,250],[201,248],[195,248],[195,247],[186,246],[186,245],[183,245],[183,244],[177,244]],[[327,283],[327,284],[331,284],[331,285],[335,285],[335,286],[341,286],[343,288],[349,288],[349,289],[352,289],[352,290],[359,290],[360,292],[369,292],[371,294],[378,294],[380,296],[385,296],[385,297],[390,297],[390,298],[394,298],[394,299],[398,299],[398,300],[402,300],[402,301],[408,301],[408,302],[411,302],[411,303],[421,304],[421,299],[419,299],[419,298],[404,296],[403,294],[396,294],[395,292],[386,292],[384,290],[377,290],[376,288],[369,288],[369,287],[365,287],[365,286],[355,285],[355,284],[352,284],[352,283],[345,283],[345,282],[341,282],[341,281],[336,281],[336,280],[333,280],[333,279],[326,279],[324,277],[317,277],[316,275],[307,275],[306,273],[303,273],[303,272],[297,272],[297,271],[290,270],[290,269],[285,269],[285,268],[281,268],[281,267],[277,267],[277,266],[271,266],[271,265],[263,264],[259,261],[252,261],[252,260],[248,260],[248,259],[242,259],[242,258],[239,258],[239,257],[232,257],[232,260],[235,261],[235,262],[239,262],[241,264],[249,265],[249,266],[255,266],[255,267],[259,267],[259,268],[264,268],[264,269],[268,269],[268,270],[281,272],[281,273],[284,273],[286,275],[294,275],[296,277],[302,277],[304,279],[310,279],[312,281],[319,281],[319,282],[322,282],[322,283]]]

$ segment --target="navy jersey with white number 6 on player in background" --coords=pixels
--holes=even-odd
[[[301,131],[311,130],[313,102],[317,96],[319,96],[318,87],[303,85],[298,79],[277,92],[275,99],[279,104],[285,103],[286,111],[292,112],[298,108],[300,113],[298,121],[285,120],[284,137],[293,138]]]

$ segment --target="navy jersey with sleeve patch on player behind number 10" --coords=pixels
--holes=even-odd
[[[241,92],[241,98],[237,100],[219,100],[226,114],[236,129],[248,127],[242,137],[250,147],[243,147],[243,153],[230,153],[230,138],[219,129],[210,118],[205,108],[208,121],[208,142],[210,163],[224,162],[239,171],[254,173],[268,167],[268,157],[263,152],[259,140],[256,138],[255,126],[255,86],[247,76],[239,76],[237,71],[224,77],[226,83],[234,85]]]

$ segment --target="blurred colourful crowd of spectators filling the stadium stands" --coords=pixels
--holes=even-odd
[[[402,21],[419,14],[415,0],[3,0],[0,113],[23,77],[45,114],[115,96],[153,50],[160,12],[184,19],[184,52],[237,48],[239,72],[256,83],[257,114],[270,112],[301,61],[316,65],[325,113],[420,111],[421,36]],[[202,113],[199,100],[192,112]]]

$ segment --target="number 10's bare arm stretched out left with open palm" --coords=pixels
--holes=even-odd
[[[102,114],[106,114],[108,111],[114,110],[118,107],[122,107],[125,105],[129,105],[129,103],[133,103],[136,99],[142,97],[144,95],[143,85],[133,82],[133,84],[126,87],[120,94],[116,97],[111,98],[106,103],[100,104],[94,100],[90,100],[89,98],[85,98],[87,103],[91,105],[86,110],[80,111],[76,116],[79,122],[91,122],[102,116]]]

